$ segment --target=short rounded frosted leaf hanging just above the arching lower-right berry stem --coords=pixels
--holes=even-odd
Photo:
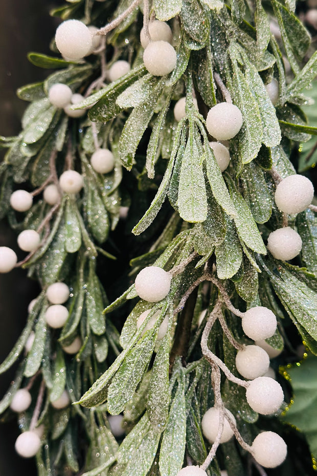
[[[217,275],[219,279],[231,278],[242,262],[242,248],[232,220],[226,218],[227,230],[224,241],[216,246]]]

